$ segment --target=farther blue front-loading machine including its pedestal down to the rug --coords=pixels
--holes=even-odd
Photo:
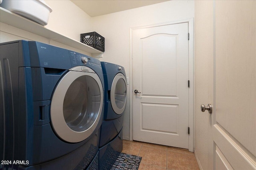
[[[127,99],[127,82],[124,67],[106,62],[101,62],[101,64],[105,81],[105,106],[100,133],[99,166],[101,169],[108,169],[111,168],[110,164],[104,162],[109,163],[115,160],[116,155],[122,151],[122,126]],[[113,155],[115,155],[114,158]]]

